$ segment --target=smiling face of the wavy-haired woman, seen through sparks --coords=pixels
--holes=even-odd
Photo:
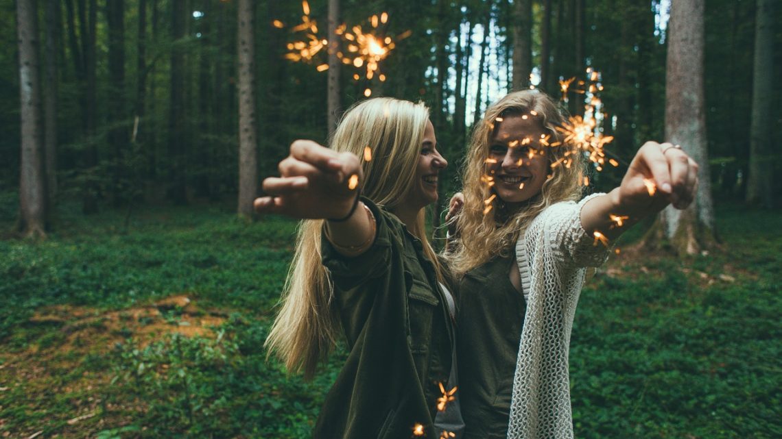
[[[494,177],[497,197],[508,205],[540,194],[550,173],[545,147],[540,145],[547,133],[536,119],[505,116],[489,143],[486,173]]]

